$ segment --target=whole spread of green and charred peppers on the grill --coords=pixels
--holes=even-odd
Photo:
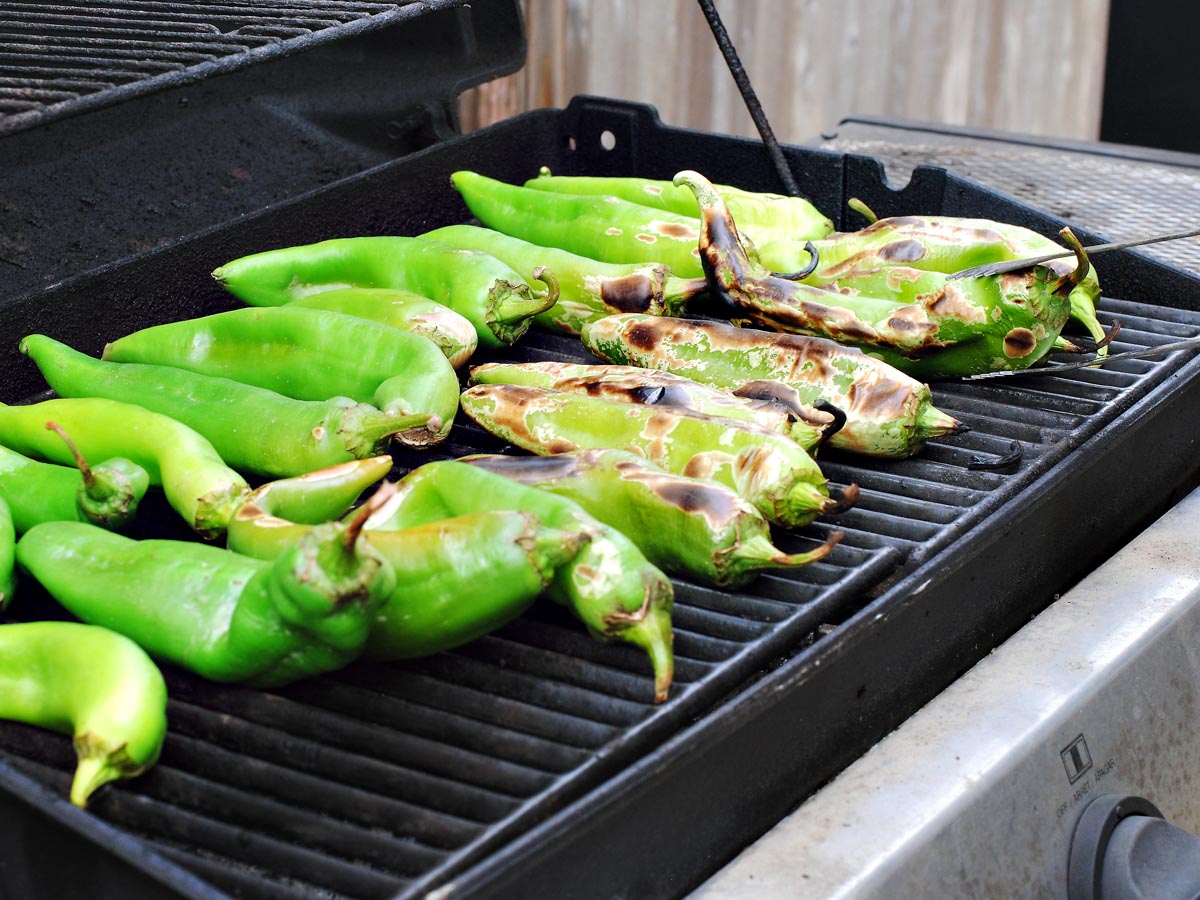
[[[282,685],[460,646],[547,596],[640,647],[665,701],[668,576],[737,588],[835,552],[828,529],[775,545],[856,500],[830,491],[821,449],[920,452],[965,428],[919,379],[1032,365],[1069,346],[1070,316],[1103,336],[1081,250],[946,280],[1044,248],[1008,226],[833,234],[805,200],[691,172],[451,180],[482,227],[228,262],[214,276],[246,306],[118,337],[101,359],[22,341],[58,398],[0,404],[0,605],[28,577],[86,624],[0,626],[0,716],[74,736],[72,802],[157,758],[151,656]],[[733,322],[690,316],[701,296]],[[487,362],[460,389],[478,349],[503,355],[530,326],[604,365]],[[460,408],[533,455],[384,480],[392,446],[437,448]],[[203,540],[114,533],[149,488]],[[100,673],[85,690],[71,654]]]

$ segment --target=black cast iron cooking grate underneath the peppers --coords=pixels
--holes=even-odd
[[[1102,320],[1114,319],[1122,324],[1114,352],[1200,334],[1200,313],[1105,299]],[[576,342],[548,336],[510,355],[586,359]],[[906,461],[829,455],[834,484],[860,485],[858,506],[780,540],[811,545],[836,527],[844,542],[822,563],[762,576],[750,590],[677,582],[677,685],[664,707],[647,702],[638,652],[599,644],[564,611],[535,605],[458,650],[361,664],[275,692],[170,672],[161,763],[98,794],[94,811],[238,896],[424,889],[631,764],[756,672],[805,653],[805,636],[836,626],[880,584],[1018,497],[1177,364],[1178,354],[1002,385],[935,385],[937,404],[968,434]],[[454,438],[445,455],[496,446],[469,424]],[[1004,455],[1012,440],[1025,451],[1016,469],[967,468],[972,457]],[[66,790],[65,738],[5,724],[0,751]]]

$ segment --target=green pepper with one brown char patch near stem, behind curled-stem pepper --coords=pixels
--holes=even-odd
[[[548,266],[558,278],[558,302],[533,320],[560,334],[577,335],[586,323],[618,312],[678,316],[708,289],[703,278],[677,278],[659,263],[600,263],[478,226],[446,226],[421,238],[491,253],[526,280],[539,265]]]

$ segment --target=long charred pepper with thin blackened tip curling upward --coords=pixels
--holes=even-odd
[[[715,296],[756,324],[860,346],[918,377],[1025,368],[1038,361],[1069,317],[1063,286],[1078,283],[1088,268],[1076,241],[1079,266],[1062,280],[1051,280],[1040,268],[953,282],[931,275],[940,282],[936,289],[910,304],[826,290],[776,277],[752,263],[713,186],[695,172],[676,178],[700,202],[700,247]]]

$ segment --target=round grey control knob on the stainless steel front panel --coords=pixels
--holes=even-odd
[[[1105,794],[1075,824],[1068,900],[1196,900],[1200,838],[1142,797]]]

